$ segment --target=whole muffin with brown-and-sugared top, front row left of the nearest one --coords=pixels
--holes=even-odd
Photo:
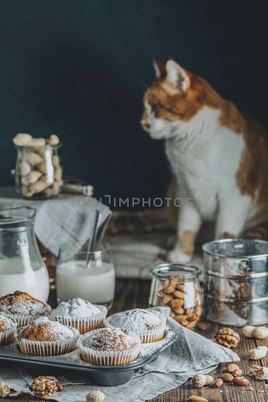
[[[32,356],[57,356],[76,348],[79,331],[76,328],[39,317],[31,324],[15,331],[20,351]]]

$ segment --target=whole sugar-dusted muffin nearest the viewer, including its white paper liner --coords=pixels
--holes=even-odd
[[[79,339],[82,359],[96,365],[131,363],[139,356],[141,338],[120,328],[100,328]]]

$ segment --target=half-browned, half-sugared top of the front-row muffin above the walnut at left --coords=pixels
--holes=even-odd
[[[75,328],[70,329],[47,317],[39,317],[25,328],[19,328],[18,339],[37,340],[39,342],[64,340],[79,334]]]

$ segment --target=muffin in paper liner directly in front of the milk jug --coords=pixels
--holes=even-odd
[[[51,307],[48,304],[18,290],[0,298],[0,314],[18,322],[18,327],[50,312]]]

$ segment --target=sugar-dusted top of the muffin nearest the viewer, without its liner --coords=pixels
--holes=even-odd
[[[82,345],[98,351],[121,352],[135,347],[137,342],[119,328],[103,328],[90,334]]]

